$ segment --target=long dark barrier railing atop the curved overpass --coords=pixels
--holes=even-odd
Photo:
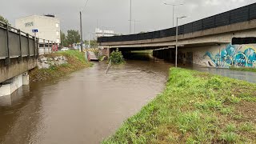
[[[253,19],[256,19],[256,3],[230,10],[222,14],[216,14],[208,18],[203,18],[195,22],[190,22],[182,26],[178,26],[178,35],[189,34],[200,30],[207,30],[218,26],[227,26],[238,22],[246,22]],[[98,38],[98,42],[138,41],[145,39],[164,38],[175,35],[176,27],[173,27],[166,30],[158,30],[142,34],[101,37]]]

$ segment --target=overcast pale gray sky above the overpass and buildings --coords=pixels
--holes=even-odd
[[[1,0],[0,14],[12,25],[15,19],[31,14],[55,14],[61,19],[63,31],[79,29],[79,11],[84,9],[86,0]],[[172,27],[172,6],[176,8],[175,17],[186,15],[179,24],[193,22],[240,6],[246,6],[256,0],[132,0],[132,19],[136,23],[136,32],[162,30]],[[130,0],[89,0],[82,13],[83,38],[94,32],[97,26],[114,30],[116,33],[129,33]],[[134,26],[133,26],[134,28]],[[134,30],[133,30],[134,31]]]

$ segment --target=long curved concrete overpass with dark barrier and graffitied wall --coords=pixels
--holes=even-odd
[[[256,67],[256,3],[178,26],[178,59],[202,66]],[[142,34],[98,38],[110,54],[119,48],[154,50],[154,56],[174,59],[176,28]]]

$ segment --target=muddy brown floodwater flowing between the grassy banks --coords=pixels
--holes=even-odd
[[[170,64],[106,63],[58,80],[23,86],[0,98],[0,143],[99,143],[165,86]]]

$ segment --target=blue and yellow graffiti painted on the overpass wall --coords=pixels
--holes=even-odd
[[[256,50],[253,46],[234,46],[229,44],[225,49],[215,55],[207,51],[203,58],[206,57],[210,58],[208,66],[256,67]]]

